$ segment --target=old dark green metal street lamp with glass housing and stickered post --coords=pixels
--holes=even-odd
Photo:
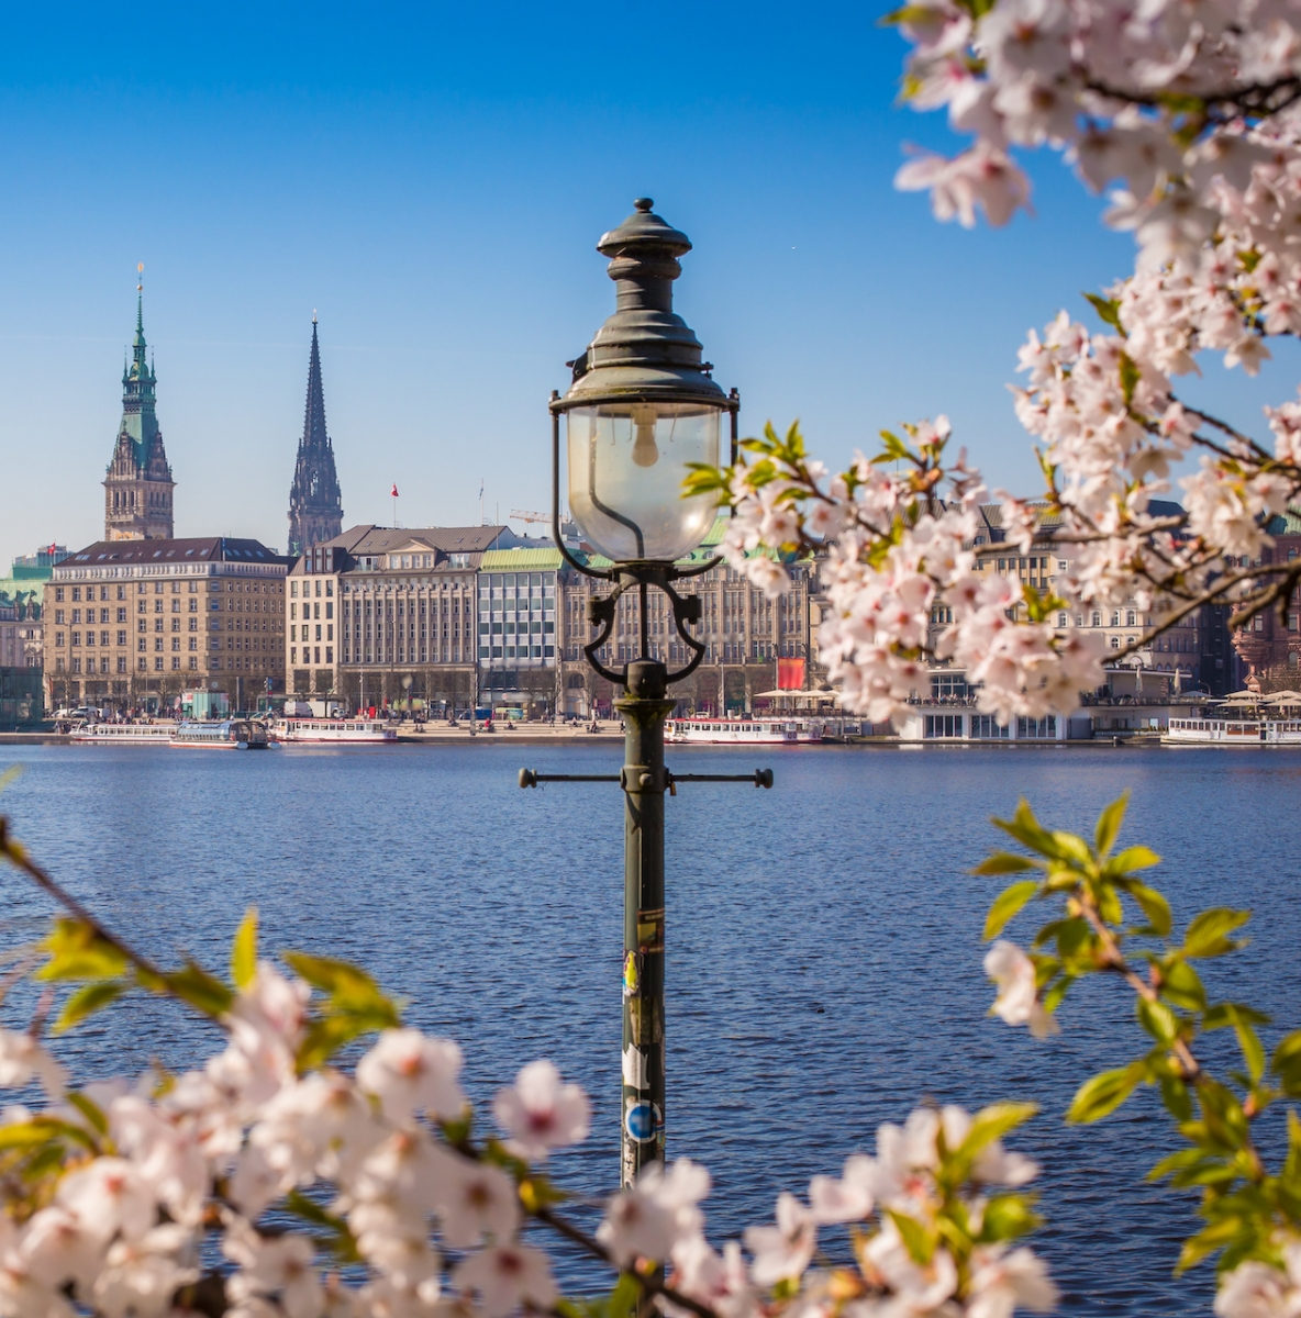
[[[683,497],[688,463],[718,463],[724,413],[737,449],[733,389],[710,378],[700,340],[674,312],[678,258],[691,250],[685,233],[639,198],[635,211],[601,237],[597,250],[610,258],[617,287],[614,315],[601,326],[576,361],[562,398],[551,395],[552,535],[564,560],[610,592],[588,604],[588,622],[600,631],[584,646],[588,663],[625,695],[623,768],[618,775],[519,771],[519,786],[548,782],[612,782],[623,788],[623,1083],[620,1103],[620,1180],[630,1185],[651,1162],[664,1160],[664,792],[678,783],[753,783],[771,787],[772,771],[753,774],[672,774],[664,767],[664,720],[674,701],[668,685],[695,672],[705,647],[685,625],[700,621],[700,600],[680,596],[674,583],[700,576],[721,559],[689,568],[679,559],[695,550],[713,526],[712,493]],[[613,561],[592,568],[575,558],[560,535],[560,419],[567,430],[569,511],[584,538]],[[674,626],[691,658],[670,672],[651,658],[647,596],[667,596]],[[614,629],[620,596],[637,592],[637,658],[608,668],[597,651]]]

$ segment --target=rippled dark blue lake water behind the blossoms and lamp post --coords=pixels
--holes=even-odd
[[[870,1151],[883,1120],[931,1095],[969,1107],[1035,1099],[1014,1147],[1044,1168],[1037,1236],[1073,1314],[1209,1313],[1209,1271],[1176,1281],[1193,1205],[1144,1184],[1173,1147],[1140,1094],[1086,1130],[1061,1120],[1087,1074],[1142,1050],[1128,998],[1089,983],[1062,1033],[1031,1041],[986,1015],[979,931],[998,844],[990,815],[1027,795],[1057,826],[1091,826],[1134,793],[1123,838],[1165,857],[1153,880],[1176,919],[1256,912],[1246,953],[1213,963],[1214,992],[1301,1023],[1301,753],[1111,747],[671,751],[696,772],[771,764],[771,792],[684,784],[667,803],[670,1155],[705,1162],[716,1240],[770,1219],[780,1189]],[[356,960],[409,1019],[457,1039],[485,1111],[538,1056],[592,1095],[591,1140],[560,1157],[581,1197],[618,1174],[622,803],[613,784],[519,791],[522,764],[613,772],[609,746],[488,742],[286,749],[0,747],[21,778],[0,809],[61,880],[162,961],[224,967],[257,904],[268,949]],[[14,873],[4,944],[49,903]],[[1015,936],[1016,927],[1012,933]],[[13,1019],[22,999],[11,1003]],[[1215,1036],[1217,1041],[1219,1036]],[[216,1040],[166,1003],[119,1008],[57,1050],[82,1074],[194,1065]],[[1227,1040],[1226,1040],[1227,1043]],[[564,1268],[573,1286],[593,1273]]]

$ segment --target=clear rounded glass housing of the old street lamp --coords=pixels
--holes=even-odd
[[[688,463],[718,465],[721,407],[703,402],[618,402],[571,407],[569,511],[614,563],[672,563],[709,534],[713,494],[683,497]]]

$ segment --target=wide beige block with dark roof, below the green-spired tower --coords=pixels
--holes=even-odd
[[[157,708],[203,688],[246,709],[283,691],[289,563],[224,536],[101,540],[70,555],[45,585],[49,705]]]

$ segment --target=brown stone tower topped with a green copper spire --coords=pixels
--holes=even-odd
[[[142,294],[137,289],[136,337],[123,369],[123,419],[104,478],[105,540],[170,540],[175,481],[162,447],[154,389],[146,360]]]

